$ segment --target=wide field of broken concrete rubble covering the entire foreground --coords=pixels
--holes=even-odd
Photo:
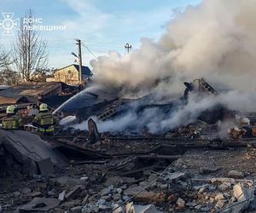
[[[104,149],[104,141],[90,147]],[[118,141],[108,141],[115,153],[124,144]],[[118,146],[113,146],[115,143]],[[128,140],[126,146],[145,147],[145,143]],[[106,152],[111,151],[109,144]],[[55,166],[48,175],[21,173],[19,182],[3,184],[1,208],[20,212],[32,208],[47,212],[125,212],[129,206],[155,212],[254,210],[254,153],[250,147],[204,148],[189,150],[180,157],[174,153],[160,156],[135,152],[134,156],[118,158],[72,159],[67,166]]]

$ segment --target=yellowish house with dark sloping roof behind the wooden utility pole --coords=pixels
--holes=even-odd
[[[82,66],[82,79],[83,81],[87,78],[90,78],[93,73],[90,71],[88,66]],[[73,64],[65,66],[61,69],[55,71],[54,78],[47,78],[47,82],[63,82],[69,85],[78,85],[79,84],[79,65]]]

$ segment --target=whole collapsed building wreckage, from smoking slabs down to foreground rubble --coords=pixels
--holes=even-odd
[[[152,95],[122,99],[85,89],[60,107],[67,117],[55,136],[1,132],[0,164],[7,166],[0,171],[0,211],[253,212],[253,135],[220,138],[218,130],[238,115],[253,125],[253,112],[214,102],[191,122],[159,133],[148,130],[148,120],[127,124],[125,131],[99,129],[125,114],[172,115],[195,92],[218,96],[202,78],[184,85],[183,97],[167,103],[154,102]]]

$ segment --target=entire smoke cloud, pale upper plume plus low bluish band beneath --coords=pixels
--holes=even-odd
[[[93,80],[121,96],[154,94],[155,101],[166,96],[170,100],[170,95],[183,95],[183,81],[201,77],[234,89],[215,98],[190,95],[186,106],[169,113],[149,108],[138,117],[131,108],[122,117],[99,122],[99,130],[126,130],[132,125],[138,130],[146,126],[153,133],[171,130],[195,122],[218,103],[256,111],[255,20],[255,0],[205,0],[177,14],[158,42],[143,38],[141,48],[129,55],[110,52],[92,60]]]

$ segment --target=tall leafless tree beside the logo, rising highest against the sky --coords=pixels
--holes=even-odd
[[[32,10],[29,9],[25,19],[32,20],[33,17]],[[29,81],[36,71],[47,68],[47,43],[40,37],[39,32],[33,29],[32,21],[20,22],[20,30],[13,45],[14,64],[15,70],[20,73],[21,78],[24,81]]]

